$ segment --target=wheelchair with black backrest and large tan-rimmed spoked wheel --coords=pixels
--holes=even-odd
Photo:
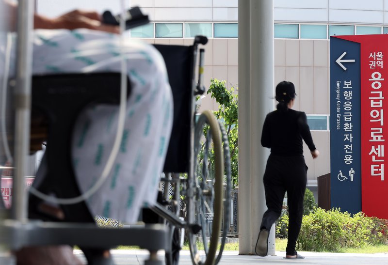
[[[226,131],[211,111],[196,115],[196,97],[205,92],[202,85],[204,49],[199,50],[197,82],[195,58],[198,44],[206,43],[206,37],[196,36],[194,45],[189,47],[155,45],[166,63],[174,97],[172,140],[162,178],[163,199],[151,207],[169,227],[167,264],[178,264],[183,230],[187,232],[193,264],[217,264],[229,228],[231,172]],[[168,187],[173,189],[170,197]],[[187,207],[185,218],[179,218],[180,196],[184,197]],[[221,242],[218,243],[220,231]],[[204,251],[199,251],[197,245]],[[220,251],[216,253],[218,247]]]

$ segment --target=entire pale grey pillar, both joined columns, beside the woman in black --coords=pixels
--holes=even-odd
[[[249,31],[249,36],[246,35],[247,31]],[[249,47],[246,43],[249,43]],[[247,49],[249,49],[249,54],[247,54]],[[249,76],[248,69],[246,69],[248,65]],[[247,1],[240,0],[240,254],[255,253],[261,218],[266,211],[263,175],[269,150],[261,146],[260,138],[265,116],[274,110],[274,94],[274,0],[250,0],[249,6]],[[275,254],[274,231],[275,227],[270,234],[269,255]]]

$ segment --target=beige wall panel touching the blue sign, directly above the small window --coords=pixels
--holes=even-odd
[[[314,67],[314,114],[329,113],[328,79],[328,67]]]

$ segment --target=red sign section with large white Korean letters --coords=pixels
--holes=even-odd
[[[385,122],[384,112],[388,115],[388,35],[336,37],[360,43],[362,211],[387,219],[388,178],[384,168],[388,169],[388,159],[384,149],[388,127],[384,123],[388,125],[388,121]]]

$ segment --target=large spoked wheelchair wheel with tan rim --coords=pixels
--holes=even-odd
[[[224,155],[220,126],[209,110],[195,125],[194,161],[193,221],[200,229],[188,230],[190,252],[195,265],[214,265],[221,229]]]

